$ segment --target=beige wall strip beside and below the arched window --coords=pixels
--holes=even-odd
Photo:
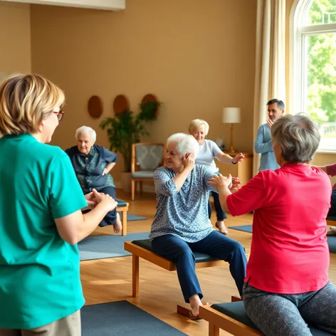
[[[287,83],[287,89],[289,88],[289,58],[290,58],[290,11],[292,10],[292,6],[295,0],[286,0],[286,58],[287,58],[287,68],[286,68],[286,83]],[[288,91],[287,91],[287,97],[288,97]],[[287,101],[287,105],[289,105],[289,102]],[[290,112],[296,112],[296,111],[290,111]],[[336,144],[335,144],[336,145]],[[317,153],[315,154],[313,164],[316,164],[317,166],[324,166],[325,164],[330,164],[336,162],[336,154],[330,154],[330,153]],[[336,183],[336,177],[330,178],[333,183]]]

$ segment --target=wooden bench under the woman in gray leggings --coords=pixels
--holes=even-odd
[[[199,308],[199,317],[209,322],[209,336],[219,336],[220,329],[236,336],[263,335],[248,318],[243,301],[236,297],[232,297],[231,301],[211,306],[203,305]],[[316,327],[310,327],[310,332],[313,336],[332,335]]]

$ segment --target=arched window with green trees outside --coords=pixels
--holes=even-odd
[[[294,6],[292,107],[317,123],[319,150],[336,152],[336,0],[300,0]]]

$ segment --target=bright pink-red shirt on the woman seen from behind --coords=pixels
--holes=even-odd
[[[319,192],[316,192],[318,190]],[[226,199],[231,215],[254,210],[246,282],[272,293],[320,290],[328,281],[327,174],[305,164],[264,170]]]

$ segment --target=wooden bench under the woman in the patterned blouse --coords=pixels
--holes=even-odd
[[[155,265],[171,272],[176,271],[173,261],[163,258],[152,252],[152,243],[149,239],[141,241],[125,241],[124,248],[132,253],[132,296],[137,298],[140,295],[139,288],[139,258],[145,259]],[[196,258],[196,268],[228,265],[225,261],[218,260],[204,253],[194,253]]]

